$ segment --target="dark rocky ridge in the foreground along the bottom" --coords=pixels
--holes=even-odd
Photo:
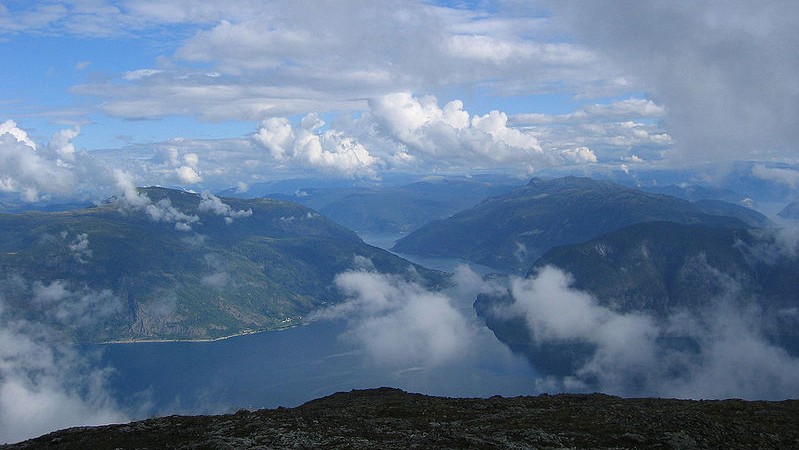
[[[799,448],[799,400],[462,399],[381,388],[296,408],[73,428],[3,449]]]

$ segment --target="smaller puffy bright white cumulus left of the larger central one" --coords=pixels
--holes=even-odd
[[[299,164],[345,176],[375,177],[380,160],[355,139],[334,130],[315,114],[294,126],[285,118],[267,119],[253,140],[278,163]]]

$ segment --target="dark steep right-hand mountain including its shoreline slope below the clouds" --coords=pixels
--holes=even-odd
[[[528,273],[555,266],[572,277],[571,288],[590,293],[613,314],[645,315],[658,323],[685,315],[721,314],[726,307],[748,311],[749,326],[772,343],[799,354],[799,256],[764,230],[742,230],[648,222],[630,225],[588,242],[547,251]],[[548,373],[571,373],[594,348],[585,342],[542,346],[519,316],[498,313],[510,295],[482,295],[475,309],[513,350]],[[687,315],[686,315],[687,314]],[[676,332],[672,342],[694,346],[693,336]],[[691,353],[691,352],[688,352]]]

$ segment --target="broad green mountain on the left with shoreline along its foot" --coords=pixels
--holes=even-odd
[[[164,188],[0,214],[10,311],[80,341],[213,339],[298,324],[356,267],[441,282],[304,206]],[[412,270],[409,271],[409,269]]]

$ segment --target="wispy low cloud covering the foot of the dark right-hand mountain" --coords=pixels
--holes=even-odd
[[[572,373],[538,380],[545,390],[599,389],[619,395],[691,398],[795,397],[799,359],[772,344],[759,313],[728,292],[702,310],[682,310],[665,319],[618,312],[572,287],[571,277],[544,267],[514,279],[503,317],[521,317],[537,346],[582,346],[584,361]],[[674,346],[682,340],[693,344]],[[533,361],[535,365],[535,361]]]

